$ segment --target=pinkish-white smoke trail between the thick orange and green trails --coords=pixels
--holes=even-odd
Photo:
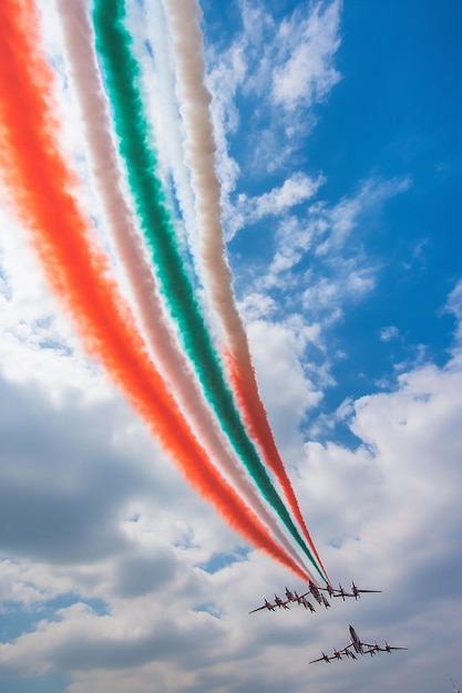
[[[151,353],[209,458],[219,464],[219,468],[225,472],[247,505],[309,575],[305,562],[283,534],[244,467],[232,453],[205,402],[195,373],[179,350],[171,324],[165,318],[155,278],[144,255],[134,216],[123,194],[122,173],[111,136],[109,104],[97,68],[86,3],[81,1],[69,3],[68,0],[55,0],[55,3],[63,28],[69,73],[81,108],[94,186],[100,193],[109,229],[132,287]]]

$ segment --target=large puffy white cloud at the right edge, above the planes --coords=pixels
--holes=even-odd
[[[450,558],[462,524],[461,392],[460,359],[427,364],[402,374],[394,392],[350,403],[357,451],[307,444],[306,493],[322,517],[324,541],[345,547],[351,571],[367,562],[370,579],[392,589]]]

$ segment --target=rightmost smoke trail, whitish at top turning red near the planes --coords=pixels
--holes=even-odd
[[[245,422],[258,442],[267,465],[275,473],[310,549],[322,566],[305,525],[258,394],[247,337],[234,299],[232,273],[225,260],[220,221],[220,185],[215,173],[216,147],[209,113],[212,96],[204,83],[205,62],[198,24],[202,15],[201,8],[197,0],[163,1],[176,64],[179,112],[186,132],[185,159],[191,169],[191,180],[195,193],[204,280],[227,338],[233,358],[233,360],[228,359],[232,366],[232,380],[237,387],[236,393],[245,414]]]

